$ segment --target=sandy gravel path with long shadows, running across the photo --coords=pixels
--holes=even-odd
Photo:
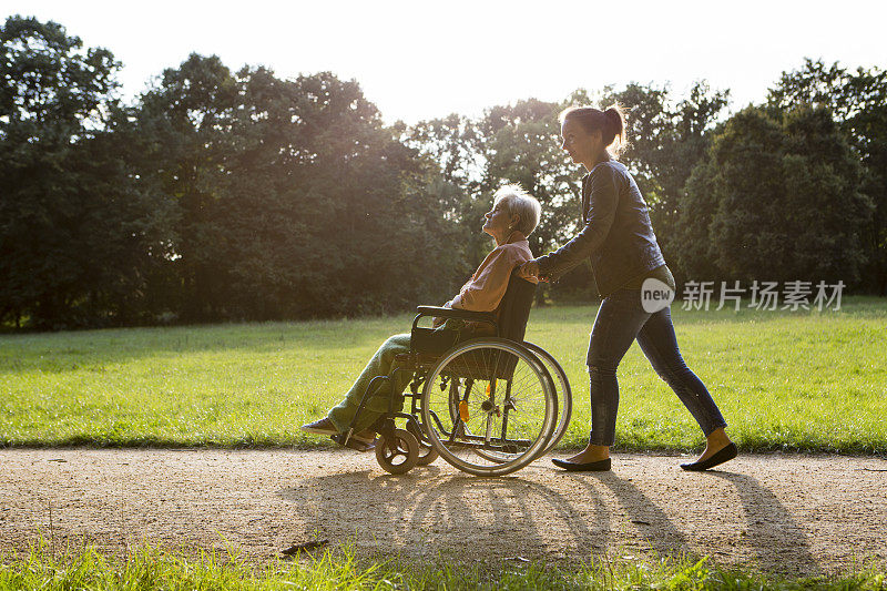
[[[623,454],[609,473],[542,459],[504,478],[438,460],[395,477],[350,450],[0,450],[0,552],[42,534],[119,552],[150,540],[266,560],[328,539],[360,553],[569,563],[708,554],[817,574],[887,563],[887,460],[747,455],[685,473]]]

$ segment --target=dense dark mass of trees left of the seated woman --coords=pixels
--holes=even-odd
[[[357,83],[193,54],[128,109],[105,50],[3,35],[0,322],[356,315],[458,285],[447,187]]]

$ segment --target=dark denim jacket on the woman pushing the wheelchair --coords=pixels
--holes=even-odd
[[[601,297],[665,264],[646,202],[624,164],[601,162],[582,179],[585,227],[570,242],[539,257],[550,281],[590,258]]]

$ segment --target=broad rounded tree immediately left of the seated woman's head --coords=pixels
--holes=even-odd
[[[223,200],[237,297],[286,317],[441,298],[460,253],[427,192],[435,175],[359,86],[329,73],[284,82],[261,69],[238,80],[241,141]]]

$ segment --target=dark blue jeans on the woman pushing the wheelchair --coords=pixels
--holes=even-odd
[[[674,390],[706,436],[726,427],[705,385],[681,357],[670,309],[651,314],[641,304],[640,289],[618,289],[601,303],[589,342],[591,445],[612,446],[615,440],[616,368],[635,338],[653,369]]]

